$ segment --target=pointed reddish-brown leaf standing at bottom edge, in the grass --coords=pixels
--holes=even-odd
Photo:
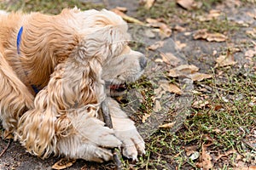
[[[200,162],[196,163],[196,166],[203,169],[211,169],[213,167],[211,160],[212,157],[207,152],[207,146],[203,144],[201,149]]]

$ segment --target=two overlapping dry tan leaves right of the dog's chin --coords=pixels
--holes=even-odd
[[[179,65],[169,71],[169,77],[189,77],[191,80],[200,82],[207,78],[212,78],[212,75],[200,73],[199,68],[195,65]]]

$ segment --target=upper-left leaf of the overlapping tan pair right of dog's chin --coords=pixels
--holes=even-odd
[[[199,71],[195,65],[179,65],[169,71],[169,77],[187,76],[189,74]]]

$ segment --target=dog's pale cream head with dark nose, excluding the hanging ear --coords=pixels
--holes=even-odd
[[[105,9],[89,10],[79,13],[79,18],[83,19],[85,56],[101,62],[98,74],[110,88],[124,88],[125,82],[134,82],[143,74],[147,59],[129,47],[128,26],[119,15]]]

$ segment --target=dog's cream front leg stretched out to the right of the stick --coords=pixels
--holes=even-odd
[[[119,104],[112,98],[107,98],[110,115],[113,122],[114,135],[122,141],[124,156],[137,160],[138,155],[145,153],[145,143],[137,132],[134,122],[122,111]]]

